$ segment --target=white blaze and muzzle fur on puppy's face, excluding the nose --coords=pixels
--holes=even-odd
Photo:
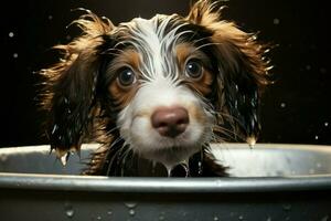
[[[141,157],[171,168],[193,154],[210,140],[213,117],[205,104],[188,86],[179,84],[180,69],[175,62],[174,46],[182,33],[166,28],[171,19],[158,23],[151,20],[131,21],[131,44],[141,54],[140,70],[146,81],[129,103],[119,113],[117,125],[120,135],[130,148]],[[171,138],[161,136],[151,125],[151,116],[160,106],[181,106],[189,113],[190,123],[184,133]]]

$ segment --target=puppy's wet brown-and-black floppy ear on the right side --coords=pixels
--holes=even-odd
[[[260,129],[259,96],[268,83],[270,69],[263,57],[266,49],[256,42],[255,35],[221,20],[222,8],[216,8],[215,2],[197,1],[188,20],[209,30],[210,41],[215,44],[218,69],[215,108],[222,113],[220,120],[228,122],[235,134],[255,144]]]

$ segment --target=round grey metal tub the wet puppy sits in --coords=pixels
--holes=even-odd
[[[2,148],[0,220],[331,220],[330,146],[213,149],[232,177],[84,177],[76,155],[63,167],[49,146]]]

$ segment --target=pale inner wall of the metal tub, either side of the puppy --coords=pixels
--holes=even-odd
[[[0,172],[79,175],[98,145],[83,145],[65,166],[50,152],[50,146],[0,149]],[[331,147],[314,145],[213,144],[217,161],[232,177],[289,177],[331,173]]]

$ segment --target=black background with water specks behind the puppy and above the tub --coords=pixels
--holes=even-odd
[[[269,53],[276,84],[263,98],[260,143],[331,145],[330,10],[327,1],[231,0],[224,19],[276,48]],[[79,7],[115,24],[154,13],[186,14],[190,0],[12,0],[2,6],[0,147],[46,144],[38,110],[38,75],[54,59],[51,46],[67,43],[65,27]],[[22,10],[22,12],[21,12]]]

